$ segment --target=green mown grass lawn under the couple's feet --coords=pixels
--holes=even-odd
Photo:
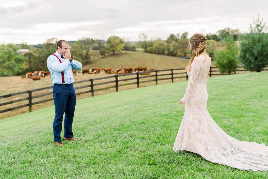
[[[208,78],[208,111],[239,140],[268,143],[267,73]],[[54,107],[0,120],[0,178],[267,178],[174,152],[187,81],[80,99],[73,132],[53,142]],[[63,138],[63,131],[62,131]]]

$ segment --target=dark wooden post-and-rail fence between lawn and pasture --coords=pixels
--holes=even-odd
[[[266,67],[268,67],[268,66],[266,66]],[[219,74],[219,73],[213,73],[213,72],[218,72],[217,70],[212,70],[212,69],[216,69],[216,68],[218,68],[218,67],[210,67],[208,76],[211,77],[211,76],[214,76],[214,75],[224,75],[224,74]],[[243,68],[243,67],[239,66],[238,68]],[[95,91],[101,91],[101,90],[106,90],[106,89],[110,89],[110,88],[116,88],[116,92],[118,92],[118,87],[125,86],[125,85],[137,84],[137,88],[139,88],[140,83],[148,83],[148,82],[151,82],[151,81],[155,81],[155,84],[157,84],[159,80],[170,80],[171,79],[172,83],[173,83],[174,79],[177,79],[177,78],[186,78],[186,80],[188,80],[188,75],[187,75],[186,72],[174,73],[174,71],[177,71],[177,70],[184,70],[184,68],[165,69],[165,70],[152,70],[152,71],[146,71],[146,72],[127,73],[127,74],[119,74],[119,75],[116,74],[116,75],[107,76],[107,77],[100,77],[100,78],[76,81],[73,84],[90,82],[90,85],[84,85],[84,86],[80,86],[80,87],[75,87],[75,89],[90,88],[90,90],[78,92],[78,93],[76,93],[76,95],[91,92],[91,96],[94,96]],[[268,69],[263,69],[263,71],[267,71],[267,70]],[[171,73],[158,74],[158,72],[165,72],[165,71],[171,71]],[[250,70],[237,70],[237,71],[250,71]],[[153,72],[155,72],[154,75],[140,76],[140,75],[142,75],[144,73],[153,73]],[[180,74],[185,74],[185,76],[175,76],[174,77],[174,75],[180,75]],[[135,75],[136,77],[118,80],[118,77],[130,76],[130,75]],[[171,75],[171,77],[168,77],[168,78],[159,78],[160,76],[170,76],[170,75]],[[146,81],[140,81],[140,79],[149,78],[149,77],[155,77],[155,79],[146,80]],[[97,81],[97,80],[103,80],[103,79],[109,79],[109,78],[114,78],[115,80],[96,83],[96,84],[93,83],[94,81]],[[129,80],[136,80],[136,82],[118,84],[118,82],[129,81]],[[115,85],[110,86],[110,87],[105,87],[105,88],[94,89],[95,86],[104,85],[104,84],[110,84],[110,83],[115,83]],[[44,100],[40,100],[40,101],[37,101],[37,102],[32,102],[32,99],[40,98],[40,97],[52,94],[51,92],[49,92],[49,93],[44,93],[44,94],[32,96],[32,92],[51,89],[52,87],[53,86],[49,86],[49,87],[32,89],[32,90],[28,90],[28,91],[22,91],[22,92],[17,92],[17,93],[12,93],[12,94],[8,94],[8,95],[0,96],[0,98],[8,98],[8,97],[11,97],[11,96],[17,96],[17,95],[22,95],[22,94],[27,94],[28,93],[28,97],[26,97],[26,98],[21,98],[21,99],[16,99],[16,100],[11,100],[11,101],[8,101],[8,102],[0,103],[0,106],[5,106],[5,105],[8,105],[8,104],[17,103],[17,102],[21,102],[21,101],[24,101],[24,100],[28,100],[27,104],[12,107],[12,108],[8,108],[8,109],[3,109],[3,110],[0,110],[0,113],[4,113],[4,112],[7,112],[7,111],[12,111],[12,110],[15,110],[15,109],[20,109],[22,107],[27,107],[27,106],[29,106],[29,111],[31,112],[32,111],[32,105],[36,105],[36,104],[39,104],[39,103],[44,103],[44,102],[53,100],[53,98],[49,98],[49,99],[44,99]]]

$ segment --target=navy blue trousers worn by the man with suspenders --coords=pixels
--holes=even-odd
[[[76,95],[73,84],[54,84],[53,98],[55,105],[55,118],[53,122],[54,141],[60,142],[64,113],[64,137],[73,137],[72,125],[76,105]]]

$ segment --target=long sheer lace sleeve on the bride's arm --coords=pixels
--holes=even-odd
[[[190,79],[188,81],[188,85],[186,88],[186,92],[184,94],[184,97],[181,99],[181,101],[183,103],[185,103],[185,101],[187,101],[189,99],[189,96],[193,90],[193,87],[195,85],[196,79],[198,77],[198,73],[200,71],[201,68],[201,64],[199,59],[195,58],[193,59],[193,62],[191,64],[191,75],[190,75]]]

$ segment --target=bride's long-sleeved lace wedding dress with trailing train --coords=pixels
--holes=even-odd
[[[207,75],[210,58],[196,57],[192,64],[185,95],[183,120],[173,150],[200,154],[206,160],[240,170],[268,170],[268,146],[237,140],[226,134],[207,111]]]

